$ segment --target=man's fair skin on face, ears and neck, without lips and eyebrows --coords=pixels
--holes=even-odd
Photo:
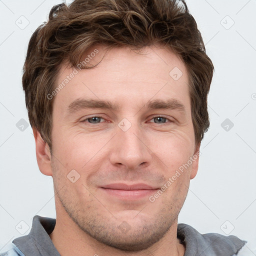
[[[177,217],[199,157],[153,202],[148,196],[122,200],[100,186],[122,182],[160,188],[198,152],[185,65],[155,45],[139,52],[129,47],[106,52],[102,45],[91,52],[94,48],[99,52],[90,63],[106,53],[101,62],[80,70],[52,99],[52,154],[33,128],[39,169],[54,184],[56,225],[50,238],[62,256],[184,255],[176,237]],[[169,75],[174,67],[183,73],[178,80]],[[71,72],[62,64],[57,84]],[[119,108],[69,112],[77,98],[107,100]],[[144,106],[154,99],[176,99],[184,111]],[[159,115],[166,119],[154,118]],[[86,118],[92,116],[102,118],[90,123]],[[126,131],[118,126],[123,118],[131,123]],[[72,169],[80,175],[74,183],[67,178]],[[118,228],[123,221],[126,232]]]

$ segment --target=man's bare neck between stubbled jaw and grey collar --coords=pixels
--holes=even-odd
[[[183,256],[184,245],[179,243],[176,234],[177,223],[169,228],[162,239],[147,249],[122,251],[97,241],[82,231],[67,213],[64,213],[57,214],[56,225],[49,236],[61,256],[146,256],[148,253],[155,256]]]

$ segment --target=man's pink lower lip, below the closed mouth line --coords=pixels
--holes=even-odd
[[[119,197],[121,199],[127,200],[135,200],[141,199],[145,196],[149,196],[154,193],[157,189],[141,189],[141,190],[121,190],[121,189],[111,189],[111,188],[103,188],[108,195],[113,195]]]

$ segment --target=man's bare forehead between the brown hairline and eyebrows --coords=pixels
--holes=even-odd
[[[81,69],[81,65],[95,66]],[[60,84],[63,86],[54,96],[54,105],[62,107],[78,98],[114,101],[129,107],[158,98],[189,101],[183,61],[168,48],[159,46],[135,51],[130,47],[91,47],[77,67],[61,65],[56,87]]]

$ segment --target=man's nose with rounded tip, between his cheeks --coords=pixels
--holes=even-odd
[[[152,151],[145,133],[138,125],[133,123],[126,131],[117,126],[111,145],[110,162],[113,165],[124,165],[132,170],[139,165],[146,167],[149,164]]]

